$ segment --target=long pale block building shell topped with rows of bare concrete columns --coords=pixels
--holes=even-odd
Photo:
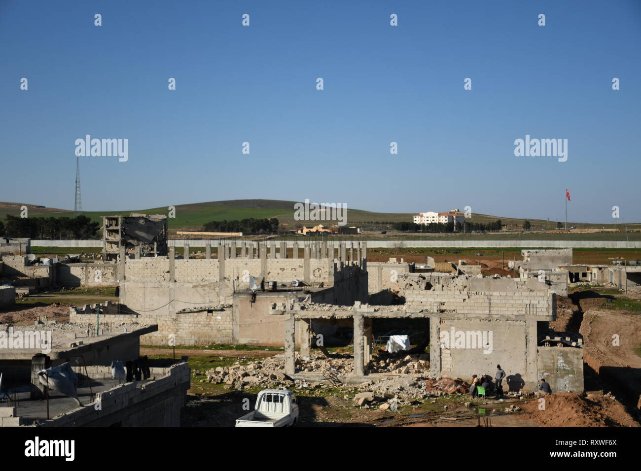
[[[263,317],[274,302],[302,292],[258,292],[256,300],[249,302],[250,276],[276,281],[278,288],[290,287],[295,279],[304,281],[317,302],[367,302],[367,272],[361,267],[358,247],[339,249],[338,254],[328,254],[326,248],[312,245],[299,251],[301,258],[285,258],[281,245],[261,244],[254,252],[252,244],[249,254],[247,247],[232,242],[216,259],[176,259],[173,247],[169,257],[126,259],[115,265],[122,278],[120,313],[158,324],[158,333],[144,336],[144,343],[167,344],[169,335],[175,335],[179,345],[282,345],[282,322],[274,324],[273,317]],[[340,261],[335,262],[335,256]]]

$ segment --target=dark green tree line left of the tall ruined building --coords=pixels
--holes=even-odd
[[[92,239],[100,224],[87,216],[78,217],[18,217],[6,215],[6,224],[0,221],[0,235],[32,239]]]

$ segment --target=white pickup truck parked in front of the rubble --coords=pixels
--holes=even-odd
[[[253,412],[236,420],[237,427],[290,427],[298,420],[298,402],[287,389],[263,389]]]

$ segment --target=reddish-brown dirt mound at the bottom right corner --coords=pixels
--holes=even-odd
[[[545,410],[538,408],[538,399],[526,402],[522,409],[545,427],[639,427],[623,404],[609,395],[582,398],[563,392],[544,399]]]

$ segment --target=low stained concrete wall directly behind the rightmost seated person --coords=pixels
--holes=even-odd
[[[583,392],[583,349],[538,347],[537,365],[538,380],[545,378],[553,393]]]

